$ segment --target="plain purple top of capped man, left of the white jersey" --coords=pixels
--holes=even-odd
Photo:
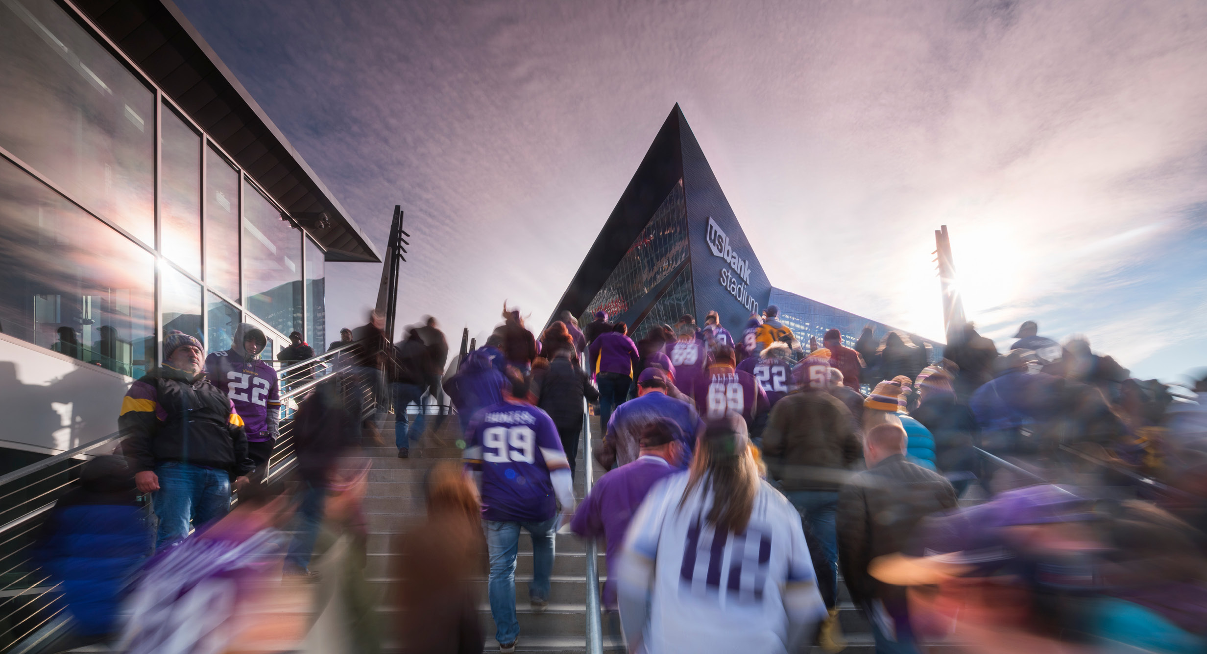
[[[659,479],[678,472],[666,460],[642,456],[605,474],[578,506],[570,529],[587,538],[607,539],[607,582],[604,584],[604,607],[616,608],[616,564],[620,559],[624,535],[629,531],[641,502]]]

